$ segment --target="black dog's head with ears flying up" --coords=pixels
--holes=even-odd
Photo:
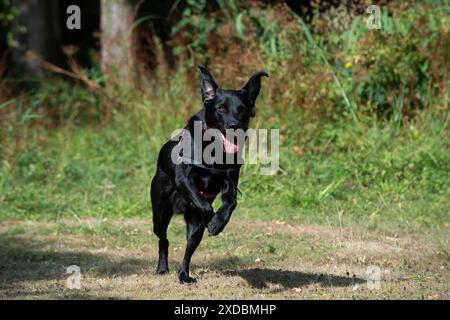
[[[255,73],[239,90],[224,90],[204,67],[201,72],[201,93],[205,106],[205,121],[208,128],[247,130],[251,117],[255,116],[255,101],[261,89],[261,77],[265,71]]]

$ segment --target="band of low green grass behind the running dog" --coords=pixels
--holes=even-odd
[[[1,219],[148,216],[157,153],[182,122],[166,131],[121,121],[31,131],[14,164],[0,169]],[[439,117],[424,113],[408,127],[342,122],[304,132],[300,151],[282,138],[277,175],[244,166],[237,218],[370,228],[449,222],[450,157]]]

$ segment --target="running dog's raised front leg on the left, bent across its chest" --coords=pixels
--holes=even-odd
[[[182,194],[186,201],[190,202],[192,206],[199,211],[203,226],[206,227],[208,222],[214,216],[214,209],[208,200],[200,196],[189,173],[190,170],[176,169],[175,184],[177,190]]]

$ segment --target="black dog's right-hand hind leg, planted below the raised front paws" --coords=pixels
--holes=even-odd
[[[183,263],[181,264],[181,268],[178,270],[178,279],[180,279],[180,282],[192,283],[196,280],[189,276],[189,264],[191,262],[191,257],[194,254],[195,249],[197,249],[198,245],[202,241],[205,227],[202,224],[200,214],[197,212],[186,212],[184,217],[187,224],[187,245],[186,251],[184,253]]]

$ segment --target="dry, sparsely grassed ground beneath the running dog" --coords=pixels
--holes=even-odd
[[[167,275],[156,275],[151,220],[0,223],[1,299],[449,299],[448,231],[393,234],[356,227],[238,220],[205,235],[196,284],[176,270],[184,222],[169,230]],[[67,268],[79,266],[80,289]],[[370,266],[380,270],[370,275]],[[369,269],[368,269],[369,267]],[[374,278],[371,278],[374,277]]]

